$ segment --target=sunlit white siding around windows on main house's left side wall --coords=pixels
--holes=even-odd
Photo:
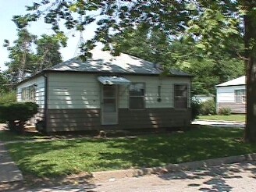
[[[36,93],[35,93],[35,100],[39,108],[44,108],[44,76],[38,76],[32,80],[28,80],[22,84],[17,86],[16,91],[16,98],[18,102],[22,101],[21,92],[23,87],[29,87],[31,85],[36,85]]]

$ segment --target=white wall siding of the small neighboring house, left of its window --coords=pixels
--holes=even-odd
[[[235,102],[235,90],[245,89],[245,85],[217,87],[217,103]]]

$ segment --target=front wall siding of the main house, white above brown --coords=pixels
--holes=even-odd
[[[48,74],[48,132],[144,129],[190,123],[190,108],[173,109],[173,84],[187,84],[190,92],[190,78],[124,75],[131,82],[145,83],[146,108],[130,110],[129,87],[119,86],[119,123],[101,126],[101,84],[97,76],[88,73]],[[159,85],[162,87],[161,102],[157,101]]]

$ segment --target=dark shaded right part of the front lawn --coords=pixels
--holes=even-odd
[[[135,140],[108,142],[108,148],[122,148],[126,153],[99,153],[109,162],[130,162],[133,167],[192,162],[208,158],[242,155],[256,151],[256,146],[242,144],[242,130],[197,129],[187,133],[169,133],[138,137]],[[95,162],[97,164],[97,162]],[[101,163],[100,166],[108,166]]]

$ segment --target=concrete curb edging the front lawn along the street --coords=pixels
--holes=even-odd
[[[202,169],[216,165],[231,164],[245,161],[256,161],[256,153],[247,155],[230,156],[226,158],[212,158],[196,162],[183,162],[180,164],[169,164],[165,166],[141,168],[141,169],[124,169],[116,171],[92,172],[94,180],[114,181],[125,177],[146,176],[151,174],[164,174],[168,172],[179,172],[185,170]]]

